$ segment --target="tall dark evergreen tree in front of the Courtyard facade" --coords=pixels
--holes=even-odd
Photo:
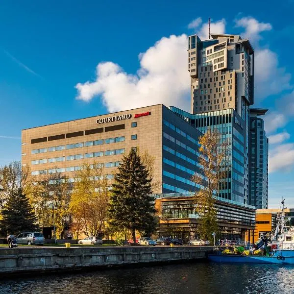
[[[136,241],[136,230],[150,233],[155,228],[151,178],[140,155],[131,149],[118,168],[108,208],[110,225],[128,229]]]

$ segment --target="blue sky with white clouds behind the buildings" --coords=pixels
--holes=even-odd
[[[155,103],[189,110],[186,37],[206,37],[210,17],[212,32],[255,48],[269,205],[294,207],[294,1],[108,2],[0,3],[0,165],[20,160],[23,128]]]

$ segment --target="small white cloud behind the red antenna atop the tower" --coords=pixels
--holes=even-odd
[[[210,21],[210,33],[211,34],[224,34],[225,32],[225,19],[221,19],[219,21],[214,22]],[[202,23],[202,19],[200,17],[193,20],[188,28],[193,28],[201,40],[208,39],[208,22]]]

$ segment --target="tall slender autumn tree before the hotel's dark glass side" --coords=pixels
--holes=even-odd
[[[225,178],[228,144],[221,142],[220,135],[213,130],[201,136],[199,144],[199,164],[202,168],[192,178],[200,187],[195,193],[196,212],[200,220],[200,237],[212,241],[212,233],[218,232],[215,203],[220,183]]]

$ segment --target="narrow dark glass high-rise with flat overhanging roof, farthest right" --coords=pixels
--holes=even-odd
[[[257,209],[268,208],[269,139],[264,120],[267,109],[250,108],[249,125],[249,197],[248,203]]]

